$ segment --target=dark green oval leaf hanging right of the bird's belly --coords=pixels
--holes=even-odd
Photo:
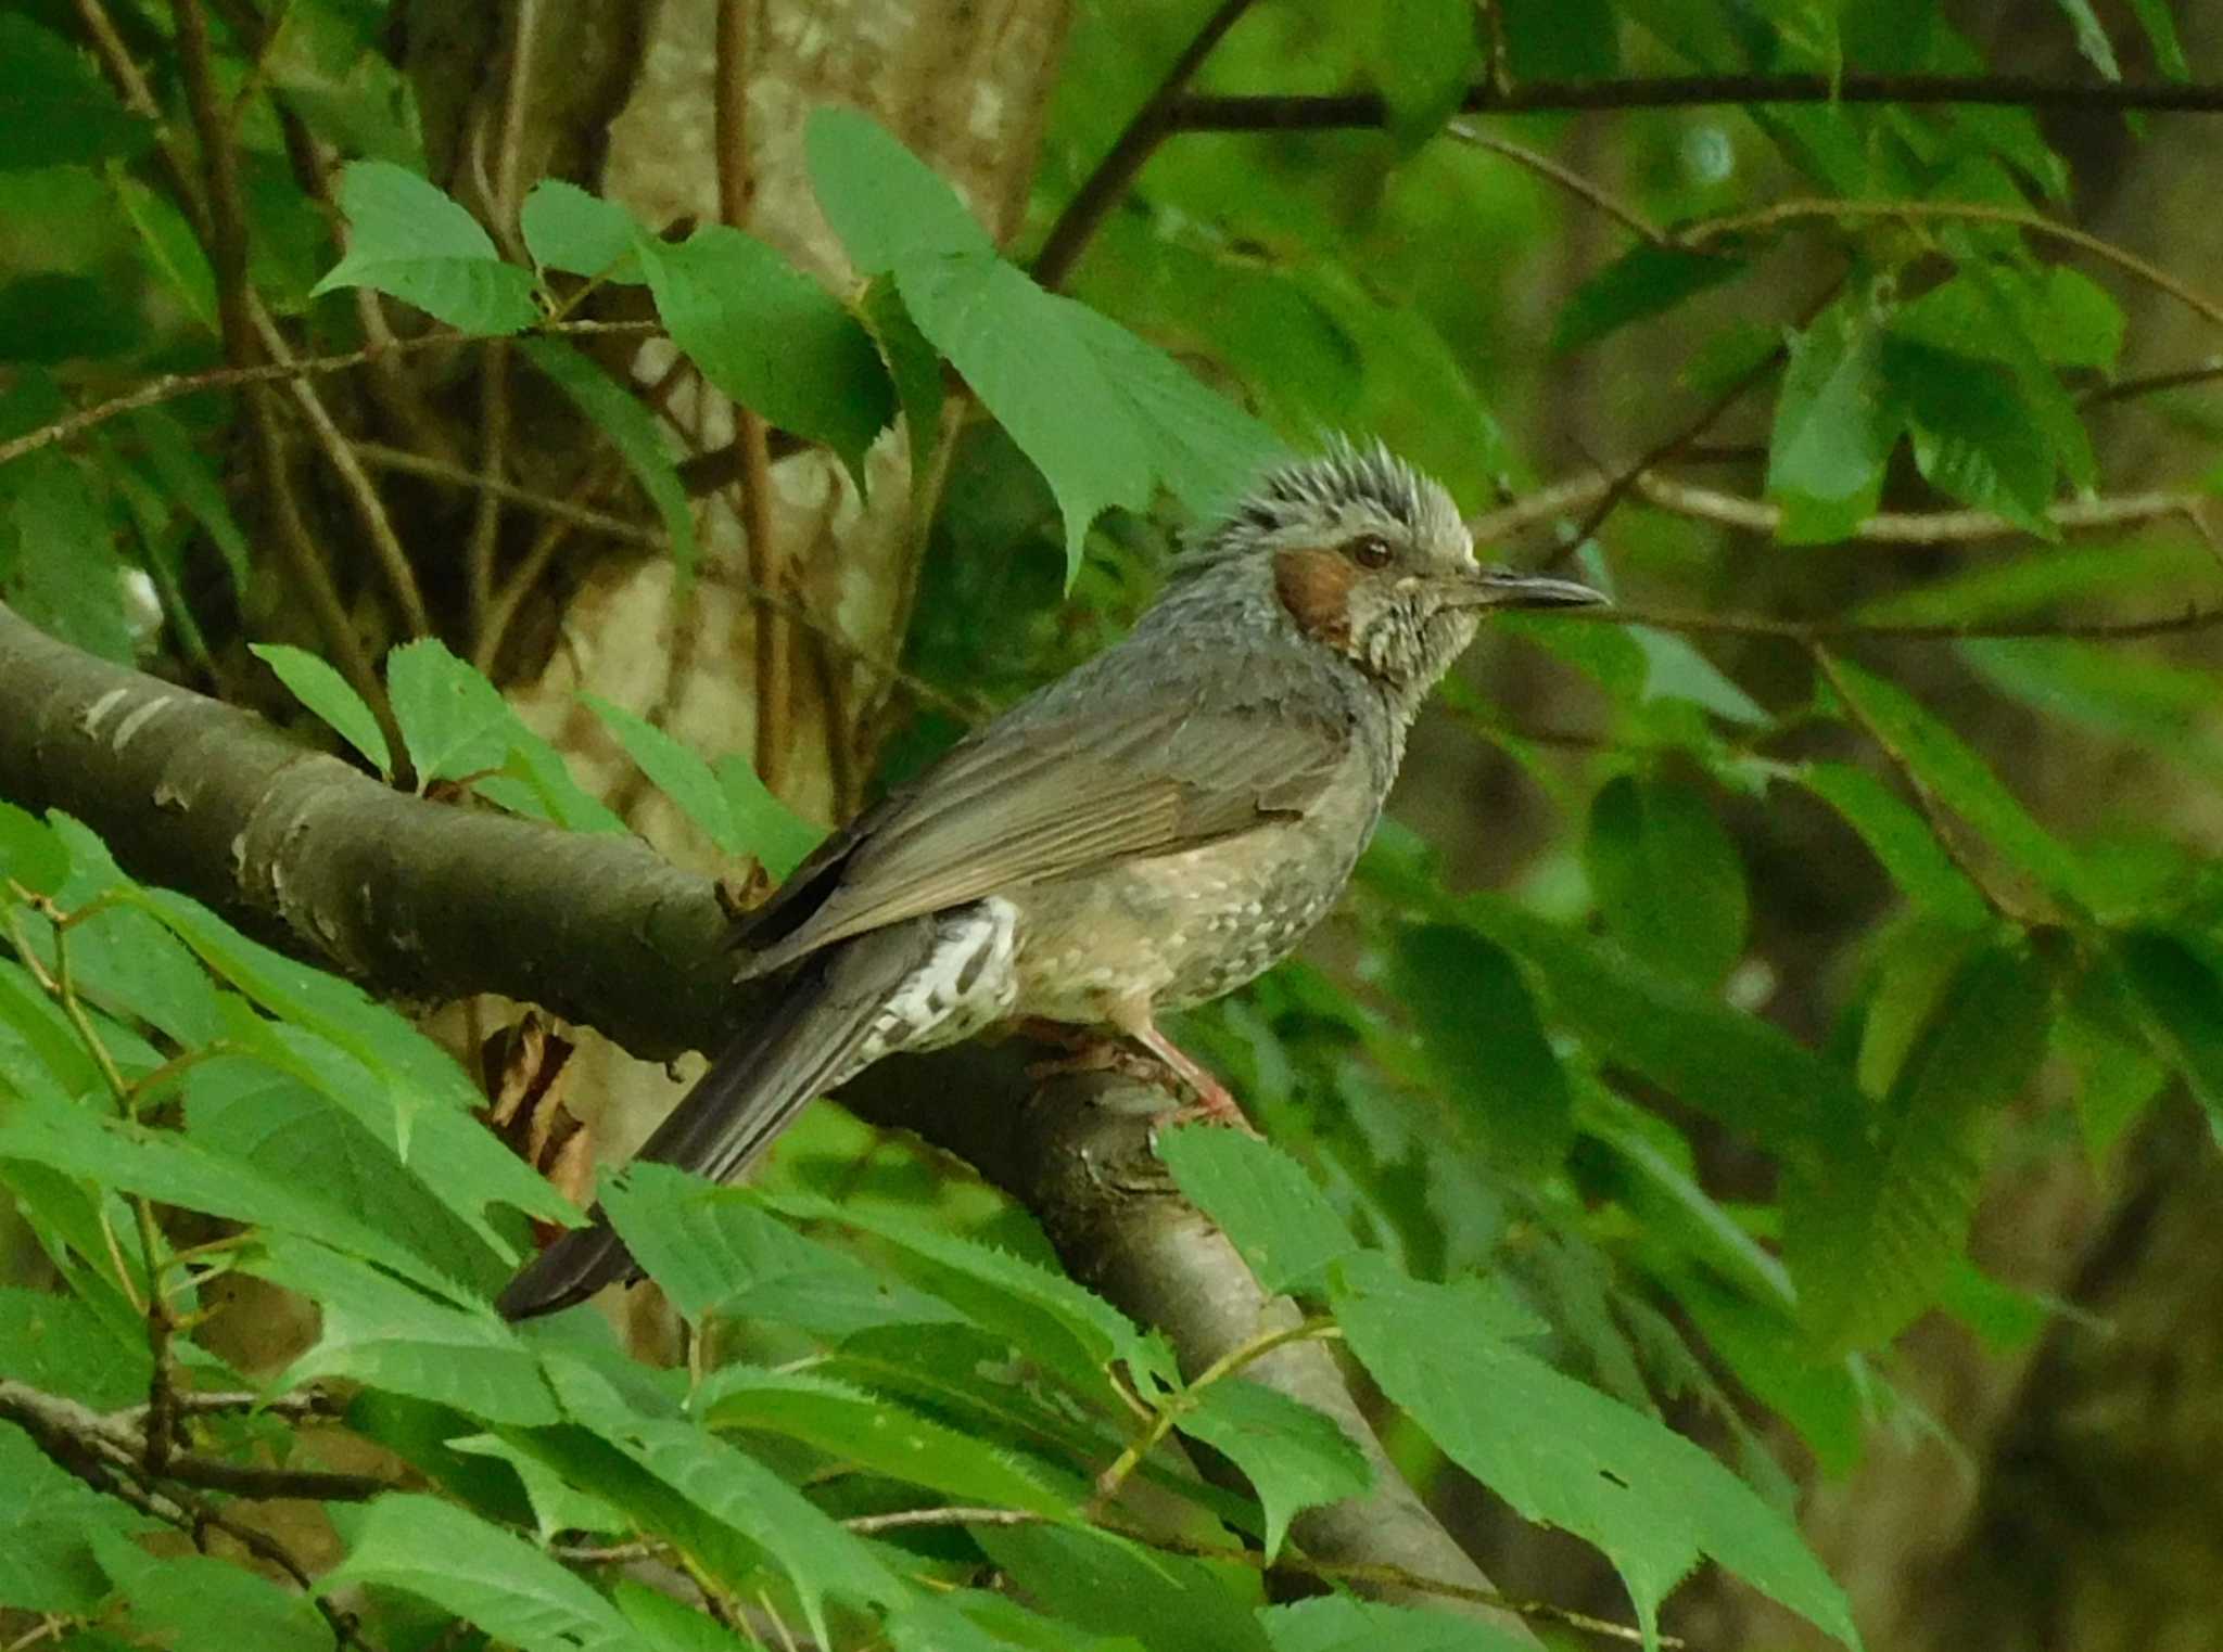
[[[1574,1101],[1505,950],[1454,924],[1407,928],[1392,981],[1438,1086],[1489,1157],[1516,1172],[1558,1168],[1574,1141]]]

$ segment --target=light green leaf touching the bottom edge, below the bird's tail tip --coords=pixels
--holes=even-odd
[[[438,1497],[393,1492],[356,1525],[331,1590],[376,1583],[476,1623],[520,1652],[640,1652],[631,1623],[525,1539]]]

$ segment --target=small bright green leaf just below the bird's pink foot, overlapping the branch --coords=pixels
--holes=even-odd
[[[1327,1195],[1269,1141],[1196,1124],[1160,1130],[1158,1157],[1269,1292],[1318,1290],[1327,1263],[1358,1248]]]

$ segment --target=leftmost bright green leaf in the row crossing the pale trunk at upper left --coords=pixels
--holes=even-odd
[[[309,289],[371,286],[462,333],[520,333],[540,320],[531,271],[505,264],[469,211],[413,171],[356,160],[340,171],[347,255]]]

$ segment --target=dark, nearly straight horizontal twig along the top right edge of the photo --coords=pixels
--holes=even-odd
[[[2214,82],[2090,82],[2043,75],[1629,75],[1623,80],[1529,80],[1474,84],[1467,115],[1574,113],[1578,109],[1689,109],[1701,104],[1990,104],[2083,113],[2219,113]],[[1327,95],[1176,98],[1172,131],[1329,131],[1380,127],[1389,104],[1374,91]]]

